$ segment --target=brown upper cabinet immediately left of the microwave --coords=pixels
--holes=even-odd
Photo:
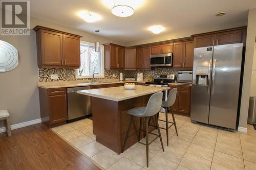
[[[141,47],[136,49],[136,68],[151,69],[150,55],[152,52],[151,46]]]

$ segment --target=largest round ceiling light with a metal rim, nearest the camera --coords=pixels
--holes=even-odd
[[[111,9],[112,14],[120,17],[128,17],[134,14],[134,9],[127,5],[116,5]]]

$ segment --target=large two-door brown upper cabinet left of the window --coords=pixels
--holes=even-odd
[[[41,67],[79,68],[81,36],[36,26],[37,64]]]

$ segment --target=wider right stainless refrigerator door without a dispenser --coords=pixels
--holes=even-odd
[[[236,129],[243,44],[214,46],[209,124]]]

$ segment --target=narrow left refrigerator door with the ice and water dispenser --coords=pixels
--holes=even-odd
[[[206,124],[208,124],[209,116],[213,50],[213,46],[195,48],[194,50],[190,118]],[[203,79],[206,79],[205,83],[202,83]]]

